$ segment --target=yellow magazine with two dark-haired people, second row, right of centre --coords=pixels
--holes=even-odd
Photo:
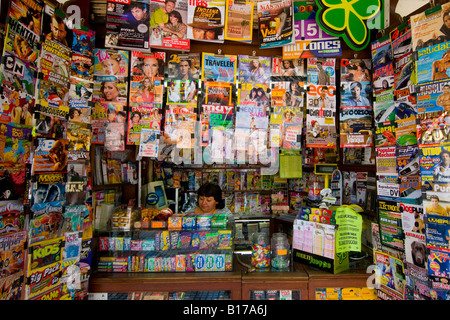
[[[230,101],[231,102],[231,101]],[[263,83],[241,83],[238,89],[238,106],[270,107],[270,88]]]

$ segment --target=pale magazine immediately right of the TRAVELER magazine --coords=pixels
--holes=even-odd
[[[271,75],[271,57],[239,55],[240,83],[269,83]]]

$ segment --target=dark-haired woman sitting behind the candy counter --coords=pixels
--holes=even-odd
[[[231,215],[231,211],[225,208],[225,202],[222,199],[222,189],[213,183],[205,183],[197,190],[197,206],[187,213],[226,213]]]

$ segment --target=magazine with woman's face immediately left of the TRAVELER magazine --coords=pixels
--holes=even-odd
[[[171,53],[167,60],[168,78],[200,79],[200,53]]]

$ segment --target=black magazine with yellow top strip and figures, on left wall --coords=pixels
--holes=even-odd
[[[36,134],[40,137],[65,138],[69,107],[40,101],[34,108]]]

